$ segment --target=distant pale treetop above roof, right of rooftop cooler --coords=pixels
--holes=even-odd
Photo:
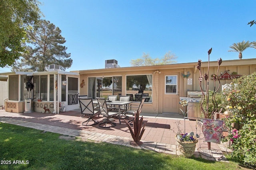
[[[171,54],[169,51],[162,58],[152,59],[149,54],[143,53],[143,55],[139,59],[131,60],[130,64],[132,66],[153,66],[153,65],[164,65],[164,64],[172,64],[176,63],[175,61],[177,57],[174,54]]]

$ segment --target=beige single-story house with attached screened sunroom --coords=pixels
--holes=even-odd
[[[34,110],[44,111],[47,107],[59,113],[58,104],[66,107],[66,110],[79,108],[78,95],[88,95],[93,99],[96,97],[107,97],[108,95],[129,95],[134,103],[139,103],[136,97],[142,95],[147,98],[142,112],[145,113],[181,113],[180,97],[187,97],[189,91],[200,91],[199,70],[195,63],[166,64],[155,66],[117,67],[102,68],[94,70],[76,70],[62,72],[59,70],[50,72],[1,73],[8,75],[8,101],[21,103],[24,111],[24,100],[27,90],[25,77],[32,74],[35,89],[32,92],[34,99]],[[202,61],[202,74],[209,75],[217,73],[217,61]],[[218,77],[226,70],[236,72],[238,75],[248,75],[256,71],[256,59],[238,59],[222,61]],[[66,82],[65,82],[66,81]],[[56,84],[57,82],[57,84]],[[220,79],[220,87],[232,82],[232,79]],[[66,83],[66,84],[65,84]],[[218,81],[216,81],[218,86]],[[205,83],[202,83],[206,90]],[[214,89],[214,80],[209,80],[209,90]],[[219,92],[221,91],[221,88]],[[41,99],[42,102],[38,102]],[[22,104],[23,103],[23,104]],[[14,111],[8,109],[6,111]]]

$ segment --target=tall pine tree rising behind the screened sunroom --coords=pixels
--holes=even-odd
[[[27,53],[23,53],[20,61],[12,67],[12,71],[46,71],[49,64],[60,65],[60,70],[65,70],[72,65],[70,53],[66,53],[66,42],[61,36],[59,27],[46,20],[40,20],[36,27],[27,32],[29,44],[26,45]]]

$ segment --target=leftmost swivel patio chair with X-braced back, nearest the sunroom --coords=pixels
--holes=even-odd
[[[89,116],[88,119],[84,122],[82,122],[82,125],[96,125],[99,122],[92,119],[96,113],[99,111],[94,111],[94,106],[92,103],[92,98],[78,98],[81,113],[83,114],[81,117],[84,118],[85,116]],[[93,124],[88,124],[90,121],[94,121]]]

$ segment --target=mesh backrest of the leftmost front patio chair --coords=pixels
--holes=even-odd
[[[92,103],[92,98],[78,98],[81,113],[86,115],[94,115],[94,107]]]

